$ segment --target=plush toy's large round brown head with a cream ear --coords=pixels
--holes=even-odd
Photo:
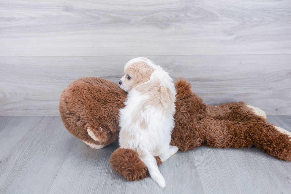
[[[126,92],[117,84],[95,77],[73,81],[63,91],[59,111],[67,130],[93,148],[118,140],[119,109]]]

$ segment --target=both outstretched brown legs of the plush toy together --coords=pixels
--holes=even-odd
[[[211,119],[202,119],[199,126],[200,130],[207,129],[203,145],[218,148],[256,145],[278,159],[291,161],[290,137],[279,132],[265,118],[250,112],[243,102],[209,107],[209,110]],[[220,130],[219,137],[216,129]],[[218,138],[222,140],[217,141]]]

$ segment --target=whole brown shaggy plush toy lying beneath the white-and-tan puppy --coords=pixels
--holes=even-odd
[[[180,151],[206,145],[217,148],[257,148],[278,159],[291,161],[291,133],[266,121],[265,113],[243,102],[207,106],[184,80],[175,82],[176,112],[171,145]],[[126,93],[101,78],[72,82],[61,94],[59,110],[67,130],[93,148],[118,140],[118,110]],[[159,157],[156,157],[160,165]],[[146,165],[131,149],[118,148],[109,161],[127,180],[149,176]]]

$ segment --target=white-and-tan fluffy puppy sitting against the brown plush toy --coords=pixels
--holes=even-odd
[[[151,177],[164,188],[165,179],[154,156],[165,161],[178,151],[170,145],[176,100],[173,79],[143,57],[127,62],[124,73],[119,84],[128,95],[119,112],[119,145],[137,151]]]

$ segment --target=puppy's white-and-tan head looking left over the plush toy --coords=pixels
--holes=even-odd
[[[155,70],[154,63],[143,57],[137,57],[124,65],[124,76],[119,80],[120,88],[129,92],[132,88],[145,83]]]

